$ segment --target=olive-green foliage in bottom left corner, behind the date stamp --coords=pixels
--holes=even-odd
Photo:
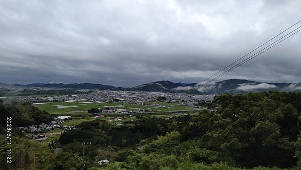
[[[51,150],[47,144],[42,144],[26,138],[13,137],[13,145],[6,145],[7,138],[0,135],[0,169],[80,169],[84,160],[78,153]],[[7,149],[12,149],[12,163],[7,163]]]

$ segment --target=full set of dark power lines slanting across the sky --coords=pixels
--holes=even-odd
[[[229,65],[228,65],[228,66],[226,66],[225,68],[221,69],[220,71],[216,72],[215,74],[213,74],[213,75],[212,75],[212,76],[210,76],[209,78],[207,78],[207,79],[203,80],[202,82],[204,82],[204,81],[206,81],[206,80],[210,79],[210,78],[211,78],[211,77],[213,77],[214,75],[216,75],[216,74],[218,74],[219,72],[221,72],[221,71],[225,70],[226,68],[228,68],[229,66],[233,65],[233,64],[234,64],[234,63],[236,63],[237,61],[241,60],[241,59],[242,59],[242,58],[244,58],[245,56],[249,55],[250,53],[252,53],[252,52],[254,52],[255,50],[257,50],[258,48],[260,48],[260,47],[262,47],[263,45],[267,44],[268,42],[270,42],[271,40],[273,40],[275,37],[279,36],[279,35],[280,35],[280,34],[282,34],[283,32],[285,32],[285,31],[287,31],[288,29],[290,29],[291,27],[295,26],[295,25],[296,25],[296,24],[298,24],[299,22],[301,22],[301,21],[298,21],[297,23],[295,23],[295,24],[293,24],[292,26],[288,27],[287,29],[285,29],[285,30],[284,30],[284,31],[282,31],[281,33],[277,34],[276,36],[274,36],[273,38],[271,38],[270,40],[268,40],[267,42],[263,43],[262,45],[260,45],[259,47],[255,48],[254,50],[252,50],[252,51],[251,51],[251,52],[249,52],[248,54],[246,54],[246,55],[244,55],[243,57],[241,57],[241,58],[237,59],[236,61],[232,62],[231,64],[229,64]],[[300,27],[301,27],[301,26],[300,26]],[[300,28],[300,27],[298,27],[298,28]],[[289,35],[290,33],[294,32],[294,31],[295,31],[295,30],[297,30],[298,28],[296,28],[296,29],[294,29],[293,31],[289,32],[289,33],[288,33],[288,34],[286,34],[285,36],[282,36],[282,37],[281,37],[281,38],[279,38],[278,40],[274,41],[273,43],[271,43],[271,44],[270,44],[270,45],[268,45],[267,47],[265,47],[265,48],[261,49],[260,51],[256,52],[255,54],[251,55],[250,57],[246,58],[245,60],[243,60],[243,61],[239,62],[239,63],[238,63],[238,64],[236,64],[235,66],[232,66],[231,68],[229,68],[228,70],[226,70],[224,73],[222,73],[222,74],[219,74],[217,77],[213,78],[212,80],[209,80],[209,81],[208,81],[208,82],[206,82],[205,84],[202,84],[202,86],[201,86],[201,87],[200,87],[199,85],[200,85],[202,82],[200,82],[200,83],[196,84],[195,88],[197,87],[198,89],[200,89],[200,88],[204,87],[206,84],[208,84],[208,83],[210,83],[210,82],[214,81],[215,79],[217,79],[217,78],[219,78],[219,77],[221,77],[221,76],[225,75],[226,73],[230,72],[231,70],[233,70],[233,69],[235,69],[235,68],[237,68],[237,67],[241,66],[242,64],[246,63],[247,61],[249,61],[249,60],[251,60],[251,59],[255,58],[256,56],[258,56],[258,55],[260,55],[260,54],[262,54],[263,52],[265,52],[265,51],[267,51],[268,49],[270,49],[270,48],[274,47],[275,45],[279,44],[280,42],[282,42],[282,41],[284,41],[285,39],[289,38],[290,36],[294,35],[295,33],[297,33],[297,32],[299,32],[299,31],[301,31],[301,30],[298,30],[297,32],[295,32],[295,33],[293,33],[293,34]],[[286,37],[287,35],[289,35],[289,36],[288,36],[288,37]],[[285,38],[285,39],[283,39],[284,37],[286,37],[286,38]],[[283,39],[283,40],[281,40],[281,39]],[[276,42],[277,42],[277,41],[279,41],[279,40],[281,40],[281,41],[280,41],[280,42],[278,42],[278,43],[276,43]],[[276,44],[274,44],[274,43],[276,43]],[[274,45],[273,45],[273,44],[274,44]],[[273,45],[273,46],[271,46],[271,45]],[[269,46],[271,46],[271,47],[270,47],[270,48],[268,48]],[[266,49],[266,48],[267,48],[267,49]],[[266,50],[264,50],[264,49],[266,49]],[[262,51],[262,52],[261,52],[261,51]],[[257,54],[257,55],[256,55],[256,54]]]

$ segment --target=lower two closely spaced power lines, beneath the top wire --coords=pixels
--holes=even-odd
[[[298,28],[301,28],[301,26],[300,26],[300,27],[298,27]],[[298,28],[296,28],[296,29],[298,29]],[[296,29],[295,29],[295,30],[296,30]],[[295,31],[295,30],[293,30],[293,31]],[[291,31],[291,32],[293,32],[293,31]],[[244,64],[244,63],[248,62],[249,60],[251,60],[251,59],[253,59],[253,58],[257,57],[258,55],[260,55],[260,54],[262,54],[263,52],[265,52],[265,51],[269,50],[270,48],[274,47],[275,45],[277,45],[277,44],[281,43],[282,41],[286,40],[287,38],[291,37],[292,35],[296,34],[296,33],[297,33],[297,32],[299,32],[299,31],[301,31],[301,30],[298,30],[298,31],[296,31],[295,33],[293,33],[293,34],[289,35],[289,36],[288,36],[288,37],[286,37],[285,39],[283,39],[283,40],[279,41],[280,39],[284,38],[285,36],[287,36],[287,35],[288,35],[288,34],[290,34],[291,32],[290,32],[290,33],[288,33],[288,34],[286,34],[285,36],[283,36],[283,37],[281,37],[280,39],[278,39],[278,40],[277,40],[277,41],[279,41],[278,43],[274,44],[274,43],[275,43],[275,42],[277,42],[277,41],[273,42],[272,44],[274,44],[274,45],[272,45],[272,44],[270,44],[270,45],[269,45],[269,46],[271,46],[271,45],[272,45],[271,47],[267,46],[267,47],[269,47],[269,48],[267,48],[267,47],[263,48],[263,49],[262,49],[263,51],[262,51],[262,50],[260,50],[260,51],[258,51],[257,53],[255,53],[255,54],[251,55],[250,57],[246,58],[245,60],[243,60],[243,61],[241,61],[240,63],[236,64],[235,66],[231,67],[230,69],[226,70],[226,71],[225,71],[225,72],[223,72],[222,74],[220,74],[220,75],[218,75],[217,77],[213,78],[212,80],[210,80],[210,81],[206,82],[206,83],[205,83],[205,84],[203,84],[201,87],[198,87],[198,89],[200,89],[200,88],[203,88],[204,86],[206,86],[206,84],[208,84],[208,83],[210,83],[210,82],[212,82],[212,81],[216,80],[217,78],[219,78],[219,77],[221,77],[221,76],[223,76],[223,75],[227,74],[228,72],[230,72],[230,71],[234,70],[235,68],[237,68],[237,67],[241,66],[242,64]],[[266,49],[266,48],[267,48],[267,49]],[[265,50],[264,50],[264,49],[265,49]],[[262,51],[262,52],[261,52],[261,51]],[[257,55],[256,55],[256,54],[257,54]]]

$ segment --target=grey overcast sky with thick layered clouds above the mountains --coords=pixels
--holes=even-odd
[[[199,82],[301,20],[300,9],[299,0],[0,0],[0,82]],[[219,80],[301,81],[300,47],[301,32]]]

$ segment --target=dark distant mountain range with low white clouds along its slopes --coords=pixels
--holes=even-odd
[[[293,91],[301,89],[301,82],[259,82],[245,79],[227,79],[206,86],[196,86],[197,83],[172,82],[168,80],[141,84],[131,88],[114,87],[95,83],[32,83],[32,84],[8,84],[1,83],[0,87],[39,87],[39,88],[65,88],[65,89],[100,89],[122,91],[146,91],[146,92],[185,92],[188,94],[223,94],[223,93],[248,93],[269,90]]]

